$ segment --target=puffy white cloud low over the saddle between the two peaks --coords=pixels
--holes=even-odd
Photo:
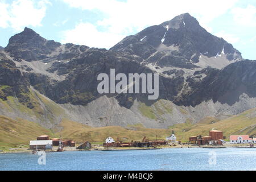
[[[91,23],[79,23],[72,30],[63,32],[61,43],[74,43],[89,47],[110,48],[113,42],[118,42],[122,35],[110,32],[100,32]]]

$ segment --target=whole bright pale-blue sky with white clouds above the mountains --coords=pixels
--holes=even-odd
[[[183,13],[256,60],[255,0],[0,0],[0,46],[29,27],[48,40],[108,49]]]

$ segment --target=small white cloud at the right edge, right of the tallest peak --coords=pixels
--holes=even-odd
[[[246,27],[256,27],[256,7],[247,5],[246,8],[236,7],[232,9],[234,21]]]

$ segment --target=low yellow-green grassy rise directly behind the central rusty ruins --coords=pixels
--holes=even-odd
[[[63,130],[57,133],[57,135],[61,135],[64,139],[74,139],[76,142],[83,142],[85,140],[103,142],[110,136],[115,140],[119,138],[127,142],[142,140],[144,136],[148,139],[155,139],[156,135],[157,138],[164,139],[167,135],[170,135],[171,131],[166,129],[146,129],[140,125],[130,126],[129,129],[120,126],[89,127],[68,120],[64,120],[60,125],[63,127]]]

